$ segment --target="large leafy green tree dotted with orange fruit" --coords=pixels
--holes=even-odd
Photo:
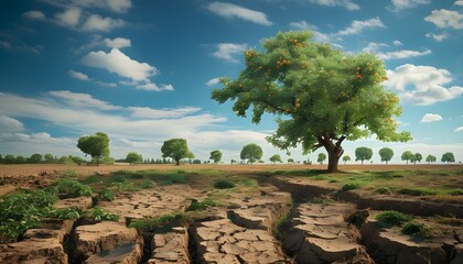
[[[265,112],[278,114],[278,129],[267,140],[287,151],[301,143],[304,154],[324,147],[329,172],[337,170],[345,140],[372,134],[380,141],[411,140],[410,133],[396,131],[394,118],[401,108],[381,86],[387,79],[383,61],[333,50],[311,36],[308,31],[278,33],[262,51],[246,51],[246,69],[234,80],[220,78],[224,87],[212,98],[234,101],[239,117],[251,107],[255,123]]]

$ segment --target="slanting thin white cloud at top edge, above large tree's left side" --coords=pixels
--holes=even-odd
[[[228,2],[212,2],[207,4],[206,9],[217,15],[224,16],[226,19],[241,19],[246,21],[250,21],[256,24],[261,25],[271,25],[272,22],[270,22],[267,19],[267,14],[255,11],[251,9],[247,9],[234,3]]]

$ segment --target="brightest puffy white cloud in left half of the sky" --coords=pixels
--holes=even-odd
[[[109,53],[90,52],[82,58],[82,63],[90,67],[107,69],[134,81],[148,81],[151,76],[159,73],[155,67],[131,59],[118,48],[112,48]]]

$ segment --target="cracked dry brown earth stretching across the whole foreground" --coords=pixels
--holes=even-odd
[[[172,185],[121,193],[96,205],[118,213],[119,222],[50,220],[29,230],[21,242],[1,245],[0,263],[463,263],[462,228],[420,211],[429,205],[414,208],[418,221],[433,232],[431,240],[420,240],[379,223],[375,216],[380,209],[365,205],[372,198],[353,199],[355,193],[303,180],[278,178],[272,184],[245,193],[213,190],[222,195],[222,206],[162,231],[126,224],[185,211],[192,199],[204,200],[211,191]],[[335,200],[313,199],[326,196]],[[94,205],[80,197],[56,206]]]

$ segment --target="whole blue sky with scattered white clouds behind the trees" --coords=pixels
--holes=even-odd
[[[244,69],[244,50],[290,30],[385,61],[413,141],[373,136],[346,142],[346,154],[369,146],[379,163],[389,146],[396,163],[406,150],[463,161],[462,0],[1,1],[0,154],[83,156],[77,139],[103,131],[116,158],[157,158],[163,141],[185,138],[201,160],[216,148],[239,160],[247,143],[287,160],[265,141],[274,117],[252,124],[211,91]]]

